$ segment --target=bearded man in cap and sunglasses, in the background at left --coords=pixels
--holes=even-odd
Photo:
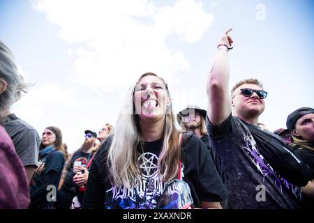
[[[84,143],[73,153],[66,164],[65,171],[67,174],[63,180],[63,185],[57,192],[57,209],[70,209],[73,198],[79,194],[80,187],[74,182],[73,177],[80,171],[84,174],[97,138],[97,133],[91,130],[86,130],[84,133]]]

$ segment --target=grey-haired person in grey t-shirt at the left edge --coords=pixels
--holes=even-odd
[[[29,123],[11,114],[10,107],[20,100],[22,92],[27,92],[27,84],[17,70],[10,49],[0,41],[0,79],[6,82],[6,89],[0,95],[1,125],[13,141],[30,181],[38,161],[38,132]]]

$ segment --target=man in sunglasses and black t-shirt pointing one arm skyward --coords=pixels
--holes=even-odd
[[[223,208],[300,208],[299,187],[278,174],[280,169],[271,167],[264,153],[272,151],[274,146],[289,149],[272,132],[258,126],[267,98],[262,83],[246,79],[232,88],[231,97],[228,93],[228,52],[233,43],[228,33],[231,30],[220,38],[207,82],[207,130],[211,151],[229,190]],[[295,158],[294,162],[300,167],[306,167],[303,162],[297,162],[294,153],[288,155]]]

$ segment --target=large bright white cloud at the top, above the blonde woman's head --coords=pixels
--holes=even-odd
[[[202,3],[175,1],[156,7],[152,1],[32,1],[47,20],[59,26],[59,38],[75,56],[75,79],[91,88],[130,86],[144,72],[171,79],[189,69],[179,49],[166,40],[177,36],[193,44],[214,20]]]

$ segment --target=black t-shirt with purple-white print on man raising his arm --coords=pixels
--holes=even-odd
[[[258,139],[254,141],[237,118],[230,114],[220,125],[211,125],[207,118],[207,130],[216,168],[229,190],[223,208],[301,208],[300,188],[276,174],[260,155]]]

